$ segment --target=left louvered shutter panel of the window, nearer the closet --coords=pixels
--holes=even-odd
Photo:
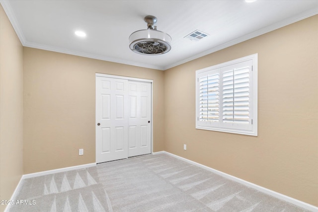
[[[219,73],[199,78],[200,121],[219,121]]]

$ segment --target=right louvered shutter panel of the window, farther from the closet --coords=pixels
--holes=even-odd
[[[223,72],[223,122],[249,123],[249,67]]]

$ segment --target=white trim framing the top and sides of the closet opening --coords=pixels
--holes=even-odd
[[[129,76],[119,76],[119,75],[111,75],[111,74],[104,74],[104,73],[95,73],[95,79],[96,76],[102,76],[102,77],[109,77],[109,78],[117,78],[117,79],[127,79],[127,80],[133,80],[133,81],[140,81],[140,82],[151,82],[151,153],[154,152],[154,80],[153,79],[143,79],[143,78],[135,78],[135,77],[129,77]],[[96,93],[96,88],[95,88]],[[96,96],[96,95],[95,95]],[[95,99],[95,117],[96,117],[96,99]],[[95,129],[97,126],[96,118],[95,118]],[[96,132],[96,130],[95,130]],[[96,145],[96,137],[95,137],[95,145]],[[95,163],[96,163],[96,148],[95,148]]]

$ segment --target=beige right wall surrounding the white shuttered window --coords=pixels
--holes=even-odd
[[[258,137],[196,130],[195,71],[254,53]],[[318,206],[318,15],[174,67],[164,80],[166,151]]]

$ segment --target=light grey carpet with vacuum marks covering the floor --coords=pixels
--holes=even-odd
[[[9,212],[306,212],[167,154],[25,179],[15,199],[36,204]]]

